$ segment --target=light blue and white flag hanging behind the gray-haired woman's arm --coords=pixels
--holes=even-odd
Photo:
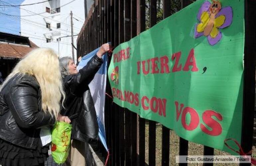
[[[77,70],[83,68],[88,61],[97,53],[99,48],[83,56]],[[97,120],[99,124],[99,138],[103,146],[108,150],[106,143],[105,134],[105,123],[104,123],[104,107],[105,107],[105,93],[106,93],[106,80],[107,80],[107,53],[102,56],[103,64],[95,74],[93,80],[89,84],[91,96],[94,102],[94,107],[97,114]]]

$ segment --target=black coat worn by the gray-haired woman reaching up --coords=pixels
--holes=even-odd
[[[61,114],[71,119],[72,139],[90,143],[98,137],[97,117],[88,84],[102,63],[103,60],[94,55],[77,74],[63,78],[66,99]]]

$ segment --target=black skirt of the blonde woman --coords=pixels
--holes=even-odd
[[[0,139],[0,165],[2,166],[44,166],[48,157],[48,146],[42,146],[41,140],[36,149],[17,146]]]

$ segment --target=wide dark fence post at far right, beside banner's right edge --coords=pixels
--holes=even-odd
[[[256,1],[244,1],[245,42],[244,42],[244,84],[243,84],[243,119],[241,146],[245,153],[252,149],[253,121],[255,108],[255,55],[256,33],[252,19],[256,17]],[[249,154],[250,155],[250,154]],[[250,163],[240,163],[250,165]]]

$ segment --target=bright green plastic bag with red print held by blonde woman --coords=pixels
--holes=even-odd
[[[65,122],[56,122],[52,129],[52,156],[56,163],[66,161],[70,148],[72,125]]]

